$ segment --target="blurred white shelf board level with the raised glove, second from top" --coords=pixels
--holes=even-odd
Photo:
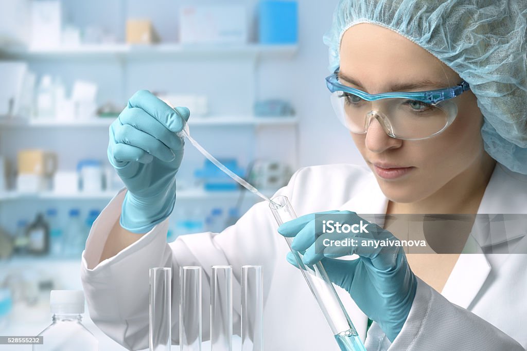
[[[110,117],[94,117],[82,121],[57,121],[56,119],[23,119],[2,118],[0,116],[0,127],[6,128],[40,128],[40,127],[108,127],[115,121]],[[298,117],[243,117],[243,116],[210,116],[190,118],[189,125],[192,126],[280,126],[295,125]]]

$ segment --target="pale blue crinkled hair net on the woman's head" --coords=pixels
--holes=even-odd
[[[527,0],[340,0],[324,36],[331,71],[344,32],[358,23],[392,29],[468,82],[486,152],[527,174]]]

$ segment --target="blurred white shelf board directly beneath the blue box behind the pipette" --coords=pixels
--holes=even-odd
[[[203,189],[186,189],[178,190],[177,199],[237,199],[241,192],[247,190],[235,190],[235,191],[218,191],[218,192],[207,192]],[[55,193],[55,192],[42,192],[42,193],[19,193],[14,190],[0,193],[0,202],[9,200],[35,200],[35,199],[50,199],[50,200],[110,200],[114,197],[119,190],[115,191],[104,191],[99,193]],[[272,196],[276,192],[276,189],[264,189],[262,193],[266,196]],[[249,195],[249,194],[246,194]],[[255,197],[258,200],[258,197]]]

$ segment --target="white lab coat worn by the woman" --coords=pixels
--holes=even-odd
[[[338,350],[304,278],[286,262],[288,246],[277,234],[277,224],[265,202],[252,206],[238,223],[220,234],[184,235],[170,244],[165,242],[165,220],[119,254],[97,264],[106,237],[120,216],[124,193],[116,195],[93,224],[81,268],[90,316],[116,342],[132,350],[148,347],[149,267],[172,267],[177,276],[180,266],[202,266],[202,304],[208,306],[209,267],[232,265],[236,332],[241,266],[263,265],[265,349]],[[298,215],[330,209],[384,214],[387,206],[374,175],[354,165],[302,168],[277,195],[288,196]],[[496,165],[478,213],[527,213],[527,176]],[[510,238],[518,252],[526,252],[526,230],[527,226]],[[337,289],[364,338],[367,317],[343,289]],[[173,279],[172,295],[172,339],[177,344],[178,279]],[[209,334],[209,318],[209,309],[203,308],[204,338]],[[393,344],[374,323],[368,330],[366,347],[368,351],[524,350],[526,330],[527,255],[462,254],[442,294],[418,280],[411,311]]]

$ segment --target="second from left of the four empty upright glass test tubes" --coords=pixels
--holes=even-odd
[[[179,349],[201,351],[201,267],[179,268]]]

